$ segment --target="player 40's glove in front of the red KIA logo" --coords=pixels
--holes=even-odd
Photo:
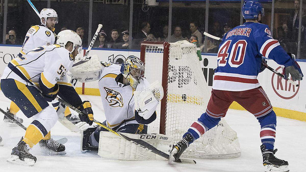
[[[291,53],[288,53],[288,55],[292,58],[293,64],[291,66],[287,66],[283,68],[283,75],[287,79],[290,73],[293,81],[302,80],[304,75],[302,73],[300,65],[294,59],[295,55]]]

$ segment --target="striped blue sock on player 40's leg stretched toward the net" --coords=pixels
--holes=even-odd
[[[200,118],[198,118],[198,120],[193,122],[193,124],[188,129],[188,132],[185,133],[184,136],[186,134],[190,133],[193,136],[193,138],[194,138],[193,141],[194,141],[194,140],[200,138],[200,136],[202,136],[207,130],[216,126],[220,120],[221,120],[220,118],[212,118],[212,117],[208,116],[205,112],[204,114],[201,115]],[[192,142],[190,142],[190,143],[192,143]],[[190,144],[190,143],[188,143],[188,144]]]

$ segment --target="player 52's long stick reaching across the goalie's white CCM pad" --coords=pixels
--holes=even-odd
[[[79,109],[73,107],[72,105],[70,105],[69,103],[67,103],[67,102],[65,102],[64,100],[60,99],[59,97],[56,97],[55,99],[57,99],[59,102],[65,104],[66,106],[70,107],[71,109],[75,110],[75,111],[78,112],[79,114],[85,115],[82,111],[80,111]],[[104,125],[103,123],[101,123],[101,122],[99,122],[99,121],[97,121],[97,120],[95,120],[95,119],[94,119],[93,122],[95,122],[96,124],[98,124],[98,125],[101,126],[102,128],[107,129],[107,130],[110,131],[111,133],[116,134],[117,136],[121,136],[121,137],[125,138],[126,140],[128,140],[128,141],[130,141],[130,142],[132,142],[132,143],[134,143],[134,144],[136,144],[136,145],[138,145],[138,146],[140,146],[140,147],[142,147],[142,148],[144,148],[144,149],[147,149],[148,151],[151,151],[151,152],[153,152],[153,153],[155,153],[155,154],[157,154],[157,155],[159,155],[159,156],[161,156],[161,157],[163,157],[163,158],[169,159],[169,155],[168,155],[168,154],[166,154],[166,153],[163,152],[163,151],[160,151],[160,150],[156,149],[154,146],[152,146],[151,144],[148,144],[148,143],[145,142],[144,140],[138,140],[138,139],[129,138],[128,136],[125,136],[125,135],[122,134],[122,133],[116,132],[115,130],[113,130],[113,129],[107,127],[106,125]],[[194,164],[196,164],[196,161],[191,160],[191,159],[180,159],[178,162],[179,162],[179,163],[194,163]]]

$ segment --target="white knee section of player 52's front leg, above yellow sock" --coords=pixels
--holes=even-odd
[[[55,123],[58,120],[58,115],[55,111],[55,109],[51,106],[46,107],[38,114],[34,115],[33,118],[36,121],[39,121],[44,128],[47,130],[47,132],[50,131],[50,129],[55,125]]]

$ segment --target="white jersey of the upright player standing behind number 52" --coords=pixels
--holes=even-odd
[[[53,32],[43,25],[32,26],[25,35],[20,54],[23,55],[30,50],[44,45],[51,45],[55,42]]]

